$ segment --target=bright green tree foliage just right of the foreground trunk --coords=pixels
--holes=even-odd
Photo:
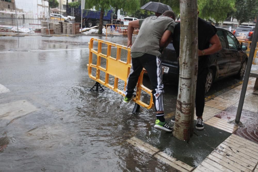
[[[213,18],[216,22],[227,19],[228,13],[235,11],[236,0],[198,0],[199,17]]]

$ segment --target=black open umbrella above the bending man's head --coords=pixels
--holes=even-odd
[[[159,2],[148,2],[147,4],[143,5],[140,9],[152,11],[155,13],[164,13],[165,11],[172,10],[169,5],[162,4]]]

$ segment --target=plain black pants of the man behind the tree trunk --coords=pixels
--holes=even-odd
[[[208,68],[199,69],[197,75],[196,83],[196,93],[195,93],[195,110],[196,116],[200,117],[203,115],[203,109],[205,104],[205,84],[206,78],[209,70]]]

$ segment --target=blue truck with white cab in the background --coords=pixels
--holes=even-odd
[[[71,8],[67,7],[66,8],[66,14],[71,15]],[[75,22],[81,22],[81,14],[82,10],[79,8],[74,8],[74,17],[75,17]],[[109,23],[114,23],[114,24],[121,24],[124,19],[115,19],[113,18],[113,11],[110,9],[107,12],[104,12],[103,16],[103,25],[106,26],[106,24]],[[122,16],[124,17],[124,16]],[[92,26],[99,26],[99,20],[100,20],[100,11],[93,11],[93,10],[83,10],[82,14],[83,18],[83,27],[92,27]]]

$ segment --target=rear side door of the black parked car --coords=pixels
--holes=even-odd
[[[228,73],[230,54],[227,49],[227,41],[224,31],[218,29],[217,36],[220,39],[222,49],[210,56],[210,64],[217,64],[217,78],[221,78]]]

